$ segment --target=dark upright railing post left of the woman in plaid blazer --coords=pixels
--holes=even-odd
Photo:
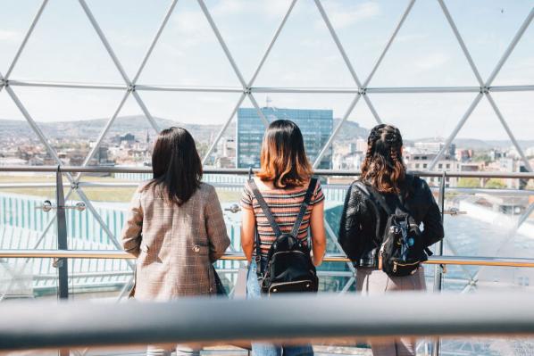
[[[67,242],[67,218],[65,214],[65,196],[63,195],[63,174],[61,166],[57,166],[55,172],[55,203],[57,205],[57,249],[68,250]],[[59,281],[57,295],[59,299],[69,299],[69,265],[67,259],[58,259],[55,262]],[[61,349],[60,356],[68,356],[68,349]]]

